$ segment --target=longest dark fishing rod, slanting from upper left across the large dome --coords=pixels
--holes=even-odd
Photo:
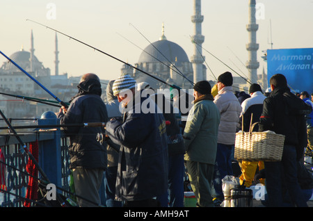
[[[147,74],[148,76],[151,76],[152,78],[157,79],[158,81],[160,81],[160,82],[162,82],[162,83],[164,83],[164,84],[166,84],[166,85],[168,85],[168,86],[170,86],[170,87],[172,87],[172,88],[177,88],[178,90],[181,89],[181,88],[179,88],[177,85],[171,85],[170,83],[167,83],[166,81],[163,81],[163,80],[161,80],[161,79],[158,79],[156,76],[153,76],[153,75],[151,75],[151,74],[149,74],[149,73],[143,71],[142,69],[139,69],[138,67],[134,67],[133,65],[130,65],[129,63],[126,63],[125,61],[120,60],[119,58],[116,58],[115,56],[112,56],[111,54],[108,54],[108,53],[106,53],[106,52],[104,52],[104,51],[102,51],[102,50],[100,50],[100,49],[97,49],[96,47],[91,46],[90,44],[87,44],[87,43],[85,43],[85,42],[82,42],[81,40],[78,40],[77,38],[73,38],[73,37],[70,36],[70,35],[67,35],[67,34],[65,34],[65,33],[61,32],[61,31],[58,31],[58,30],[56,30],[56,29],[54,29],[54,28],[51,28],[51,27],[49,27],[49,26],[46,26],[46,25],[44,25],[44,24],[40,24],[39,22],[35,22],[35,21],[31,20],[31,19],[26,19],[26,21],[34,22],[35,24],[39,24],[39,25],[41,25],[41,26],[44,26],[44,27],[46,27],[46,28],[49,28],[49,29],[51,29],[52,31],[56,31],[57,33],[60,33],[61,35],[65,35],[67,38],[73,39],[73,40],[75,40],[75,41],[77,41],[77,42],[79,42],[79,43],[81,43],[81,44],[84,44],[84,45],[86,45],[87,47],[90,47],[90,48],[94,49],[95,51],[99,51],[100,53],[105,54],[106,56],[109,56],[109,57],[111,57],[111,58],[113,58],[113,59],[115,59],[115,60],[120,61],[121,63],[124,63],[125,65],[129,65],[129,67],[133,67],[134,69],[137,69],[138,71],[143,72],[143,74]]]

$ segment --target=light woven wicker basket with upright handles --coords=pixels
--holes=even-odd
[[[258,124],[255,123],[255,124]],[[236,133],[234,158],[244,161],[281,161],[284,136],[273,131]]]

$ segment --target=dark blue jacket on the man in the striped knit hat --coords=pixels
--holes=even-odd
[[[154,113],[143,113],[142,109],[136,113],[136,107],[145,106],[144,101],[155,106]],[[115,196],[127,201],[156,197],[168,186],[168,146],[163,115],[157,113],[157,106],[150,98],[141,97],[136,104],[131,103],[134,105],[128,106],[130,110],[122,123],[111,120],[106,124],[106,134],[121,145]]]

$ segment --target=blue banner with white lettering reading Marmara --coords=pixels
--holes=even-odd
[[[291,92],[313,92],[313,48],[267,50],[267,79],[284,74]]]

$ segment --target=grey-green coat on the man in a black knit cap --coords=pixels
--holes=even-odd
[[[214,165],[220,112],[211,95],[202,95],[193,103],[184,129],[184,159]]]

